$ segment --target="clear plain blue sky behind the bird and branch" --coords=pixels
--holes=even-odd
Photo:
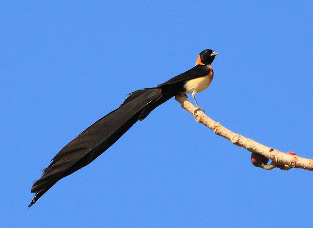
[[[230,130],[313,158],[311,1],[4,1],[1,227],[312,226],[313,174],[264,171],[171,99],[33,207],[32,182],[126,94],[214,49],[197,100]]]

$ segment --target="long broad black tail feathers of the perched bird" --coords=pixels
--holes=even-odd
[[[32,186],[31,192],[35,196],[29,207],[60,179],[95,160],[138,120],[146,118],[172,96],[162,88],[147,88],[130,93],[119,108],[91,125],[54,156],[41,178]]]

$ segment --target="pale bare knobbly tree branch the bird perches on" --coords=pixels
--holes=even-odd
[[[182,108],[186,109],[192,115],[196,107],[188,100],[185,95],[176,95],[175,99],[181,104]],[[195,115],[195,120],[209,129],[216,135],[224,137],[237,146],[244,147],[250,152],[258,153],[270,160],[270,165],[261,164],[261,168],[271,170],[273,168],[280,168],[282,170],[289,170],[291,168],[305,169],[313,171],[313,160],[299,157],[297,155],[289,155],[272,147],[262,145],[261,143],[237,133],[234,133],[223,127],[219,122],[215,122],[209,118],[203,111],[198,111]]]

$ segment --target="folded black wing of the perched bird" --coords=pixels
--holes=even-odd
[[[157,87],[164,87],[167,85],[171,85],[171,84],[175,84],[178,82],[183,82],[183,81],[188,81],[191,79],[195,79],[195,78],[200,78],[200,77],[204,77],[206,75],[208,75],[210,72],[209,67],[205,66],[205,65],[196,65],[193,68],[191,68],[190,70],[179,74],[177,76],[175,76],[174,78],[171,78],[170,80],[157,85]]]

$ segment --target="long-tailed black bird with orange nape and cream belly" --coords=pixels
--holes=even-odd
[[[196,103],[194,114],[201,110],[196,94],[209,87],[213,79],[211,63],[216,55],[214,50],[205,49],[199,53],[196,65],[190,70],[157,87],[129,93],[117,109],[88,127],[52,158],[41,178],[31,188],[35,195],[28,207],[36,203],[56,182],[94,161],[137,121],[144,120],[157,106],[173,96],[191,93]]]

